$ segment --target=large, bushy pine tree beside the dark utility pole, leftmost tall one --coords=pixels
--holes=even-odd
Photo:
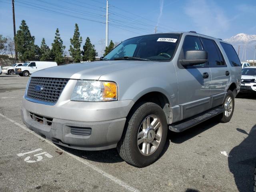
[[[22,20],[20,30],[17,31],[16,49],[19,59],[23,62],[26,60],[33,60],[36,56],[35,37],[31,36],[25,20]]]

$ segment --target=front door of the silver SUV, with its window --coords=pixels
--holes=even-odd
[[[198,36],[186,36],[180,52],[180,59],[188,50],[203,50]],[[206,64],[184,67],[178,61],[178,103],[180,120],[210,109],[211,72]]]

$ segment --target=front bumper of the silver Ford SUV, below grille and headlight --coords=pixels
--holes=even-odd
[[[37,134],[56,144],[80,150],[115,148],[122,136],[132,100],[114,102],[74,102],[48,106],[23,98],[22,121]],[[94,106],[94,107],[92,107]],[[52,118],[49,126],[30,113]],[[72,128],[91,128],[90,135],[72,134]]]

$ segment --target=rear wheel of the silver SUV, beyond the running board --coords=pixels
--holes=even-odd
[[[228,102],[228,100],[230,100],[230,102]],[[227,95],[224,99],[224,103],[222,104],[222,107],[225,108],[225,111],[222,114],[220,114],[220,122],[227,123],[232,118],[232,115],[234,113],[234,107],[235,107],[234,94],[231,90],[228,90]],[[230,112],[228,112],[229,110]]]

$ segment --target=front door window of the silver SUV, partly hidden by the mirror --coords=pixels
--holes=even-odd
[[[201,41],[199,37],[196,36],[186,36],[183,46],[182,46],[182,57],[184,58],[185,52],[186,51],[192,51],[192,50],[203,50]],[[188,66],[186,68],[201,68],[204,67],[205,64],[198,64],[198,65],[193,65],[193,66]]]

